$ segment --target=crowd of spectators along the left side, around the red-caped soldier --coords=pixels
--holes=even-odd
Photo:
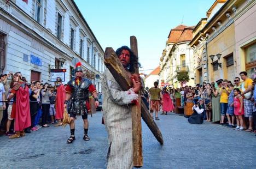
[[[13,102],[15,98],[8,100],[11,92],[15,87],[15,75],[12,73],[0,75],[0,136],[4,134],[9,138],[19,138],[25,135],[16,135],[14,131],[14,118],[11,113],[13,110]],[[30,101],[30,119],[31,126],[26,128],[26,133],[37,131],[40,128],[48,128],[50,124],[54,126],[62,125],[62,118],[57,119],[56,117],[56,95],[58,87],[61,85],[61,79],[56,82],[53,86],[49,83],[42,83],[42,81],[32,81],[28,83],[25,77],[22,77],[22,81],[25,82],[26,87],[29,90],[29,101]],[[61,92],[65,92],[61,91]],[[62,116],[62,114],[61,114]]]

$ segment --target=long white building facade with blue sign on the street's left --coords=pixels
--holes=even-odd
[[[101,92],[104,51],[73,0],[0,0],[0,72],[21,71],[28,81],[50,81],[50,69],[66,69],[77,58],[97,75]],[[53,83],[53,82],[51,82]]]

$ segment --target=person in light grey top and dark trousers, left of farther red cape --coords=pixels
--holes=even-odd
[[[50,111],[50,92],[49,92],[49,83],[44,83],[44,88],[41,91],[42,94],[42,127],[48,128],[49,125],[47,125],[47,118]]]

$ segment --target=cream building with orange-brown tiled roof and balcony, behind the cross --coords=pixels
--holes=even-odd
[[[160,80],[170,87],[194,85],[193,49],[189,46],[194,27],[179,25],[168,35],[166,48],[160,58]],[[179,72],[187,72],[189,81],[181,84],[177,80]]]

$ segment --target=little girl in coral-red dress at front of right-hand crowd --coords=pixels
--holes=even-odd
[[[243,130],[243,114],[245,110],[243,109],[243,98],[241,92],[238,88],[234,89],[234,114],[236,115],[236,128],[235,130]]]

